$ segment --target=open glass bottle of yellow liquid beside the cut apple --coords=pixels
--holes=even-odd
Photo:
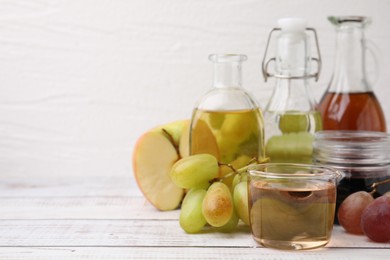
[[[262,111],[241,86],[241,64],[247,57],[213,54],[213,87],[196,105],[191,120],[190,154],[209,153],[239,169],[264,159]],[[231,170],[220,167],[221,175]]]

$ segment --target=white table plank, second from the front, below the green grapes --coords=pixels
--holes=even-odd
[[[186,234],[177,220],[1,220],[0,246],[77,247],[259,247],[249,228],[233,233],[206,230]],[[346,234],[335,227],[332,248],[387,248],[389,243],[373,243],[364,236]]]

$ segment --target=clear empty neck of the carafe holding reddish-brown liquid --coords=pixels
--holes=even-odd
[[[340,24],[336,35],[335,63],[329,91],[370,91],[366,77],[363,25],[356,22]]]

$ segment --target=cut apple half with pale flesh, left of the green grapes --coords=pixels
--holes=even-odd
[[[169,172],[181,158],[179,142],[188,124],[189,120],[180,120],[156,127],[144,133],[135,145],[135,179],[145,198],[159,210],[176,209],[183,199],[184,190],[172,182]]]

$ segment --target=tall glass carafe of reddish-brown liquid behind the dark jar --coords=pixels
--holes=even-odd
[[[367,80],[367,41],[370,19],[360,16],[329,17],[336,27],[333,76],[319,103],[325,130],[386,132],[381,105]]]

